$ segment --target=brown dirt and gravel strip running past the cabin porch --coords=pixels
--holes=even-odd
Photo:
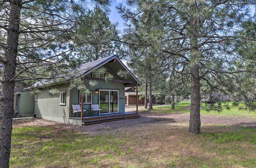
[[[26,127],[26,126],[59,126],[63,129],[73,129],[90,134],[106,133],[111,134],[131,127],[148,127],[158,124],[170,124],[170,123],[189,123],[189,114],[176,113],[176,114],[156,114],[141,112],[141,118],[120,120],[99,124],[92,124],[86,126],[78,126],[72,124],[64,124],[43,119],[24,119],[13,120],[14,127]],[[230,117],[230,116],[212,116],[202,115],[202,124],[214,124],[214,125],[231,125],[231,126],[246,126],[256,128],[255,118],[242,118],[242,117]]]

